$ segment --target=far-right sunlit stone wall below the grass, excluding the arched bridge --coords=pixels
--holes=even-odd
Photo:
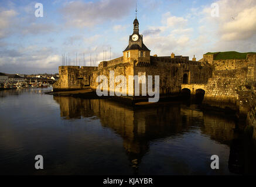
[[[204,55],[204,60],[213,59],[213,54]],[[213,74],[209,78],[204,96],[208,101],[232,103],[239,106],[240,112],[247,111],[246,105],[241,103],[248,97],[247,84],[252,84],[255,77],[256,55],[248,54],[247,59],[242,60],[212,60]],[[204,101],[207,102],[207,101]],[[219,103],[216,103],[219,106]]]

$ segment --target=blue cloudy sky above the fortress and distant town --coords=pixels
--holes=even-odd
[[[56,73],[63,54],[71,65],[76,54],[78,65],[97,65],[104,51],[106,60],[121,57],[136,4],[151,55],[200,60],[209,51],[256,51],[255,0],[0,0],[0,72]]]

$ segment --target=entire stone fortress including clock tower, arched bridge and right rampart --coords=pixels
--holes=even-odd
[[[110,71],[114,72],[114,78],[124,75],[126,79],[129,75],[159,75],[160,96],[186,92],[195,98],[201,95],[203,102],[210,103],[211,108],[239,110],[239,114],[247,115],[256,137],[256,53],[206,53],[199,61],[195,57],[190,61],[189,57],[175,56],[174,53],[163,57],[151,56],[143,36],[139,34],[138,20],[135,19],[133,24],[134,30],[123,56],[102,61],[98,67],[60,66],[60,79],[53,85],[54,91],[88,86],[95,90],[100,84],[97,82],[99,75],[108,78],[108,91],[111,91]],[[115,86],[117,84],[115,82]],[[131,89],[134,93],[134,86]],[[134,94],[130,97],[134,98]]]

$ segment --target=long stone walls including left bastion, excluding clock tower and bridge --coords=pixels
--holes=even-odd
[[[100,84],[96,82],[99,75],[105,75],[108,78],[108,91],[111,91],[110,71],[114,71],[115,77],[118,75],[125,76],[127,79],[127,95],[129,89],[134,90],[133,87],[129,88],[129,75],[152,75],[153,83],[155,82],[154,75],[159,75],[160,94],[179,93],[183,75],[185,74],[187,74],[187,81],[190,83],[204,84],[211,77],[210,65],[197,61],[188,61],[183,58],[151,56],[150,64],[139,64],[136,60],[125,63],[123,57],[120,57],[111,61],[103,61],[98,67],[59,67],[60,79],[54,84],[54,91],[84,89],[86,86],[96,89]],[[120,81],[115,81],[115,86],[119,83]]]

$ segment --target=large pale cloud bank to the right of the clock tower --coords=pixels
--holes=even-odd
[[[173,51],[190,58],[196,54],[197,59],[208,51],[255,51],[256,1],[215,3],[220,8],[217,18],[211,17],[210,4],[191,8],[182,17],[164,13],[162,25],[151,27],[161,32],[145,36],[145,44],[159,56]]]

